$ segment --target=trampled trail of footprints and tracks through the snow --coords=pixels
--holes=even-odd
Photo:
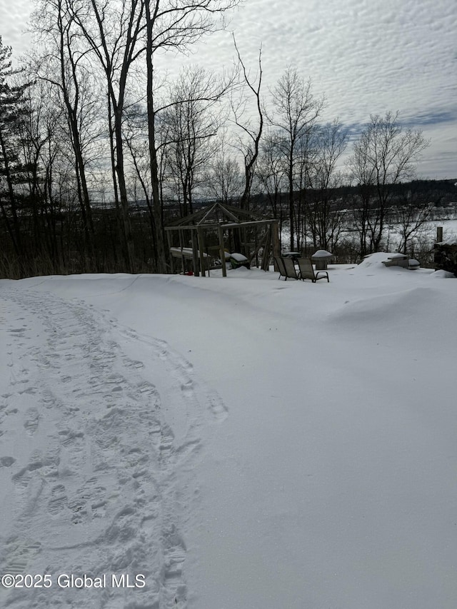
[[[191,483],[206,417],[222,420],[224,403],[196,386],[191,364],[167,343],[86,304],[14,288],[2,298],[14,327],[0,395],[0,569],[50,573],[53,585],[0,588],[1,605],[186,607],[178,474]],[[178,438],[167,405],[180,413]],[[146,586],[62,589],[60,573],[141,573]]]

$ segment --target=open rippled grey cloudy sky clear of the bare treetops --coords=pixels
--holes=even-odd
[[[30,10],[31,0],[0,0],[0,34],[14,54],[28,44],[21,31]],[[358,129],[370,114],[398,110],[431,139],[420,175],[457,178],[456,0],[244,0],[228,27],[253,71],[262,45],[266,96],[291,65],[326,96],[325,119]],[[161,65],[172,73],[186,63],[220,70],[232,59],[225,32]]]

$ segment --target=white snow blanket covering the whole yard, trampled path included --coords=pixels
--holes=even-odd
[[[1,607],[455,609],[457,281],[382,258],[0,281]]]

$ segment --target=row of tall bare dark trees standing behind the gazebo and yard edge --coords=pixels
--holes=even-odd
[[[265,95],[261,49],[251,76],[234,39],[231,73],[157,71],[236,4],[38,0],[17,69],[0,38],[1,276],[168,272],[164,226],[209,200],[278,218],[291,250],[334,250],[348,226],[353,256],[382,246],[420,131],[387,112],[351,138],[296,69]],[[401,196],[406,248],[430,201]]]

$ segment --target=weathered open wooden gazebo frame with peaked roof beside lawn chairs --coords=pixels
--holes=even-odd
[[[261,237],[256,239],[253,252],[248,251],[246,243],[246,229],[263,228]],[[171,253],[171,271],[174,272],[174,258],[181,258],[184,269],[185,258],[192,260],[194,274],[206,276],[209,269],[209,250],[216,251],[222,263],[222,276],[226,277],[226,238],[238,244],[247,258],[255,258],[263,248],[261,268],[268,271],[271,255],[279,256],[278,220],[259,219],[253,213],[238,209],[223,203],[213,203],[196,213],[179,218],[165,227]],[[208,233],[216,233],[217,245],[207,247]],[[190,238],[189,238],[190,233]],[[179,246],[176,246],[176,235],[179,237]]]

